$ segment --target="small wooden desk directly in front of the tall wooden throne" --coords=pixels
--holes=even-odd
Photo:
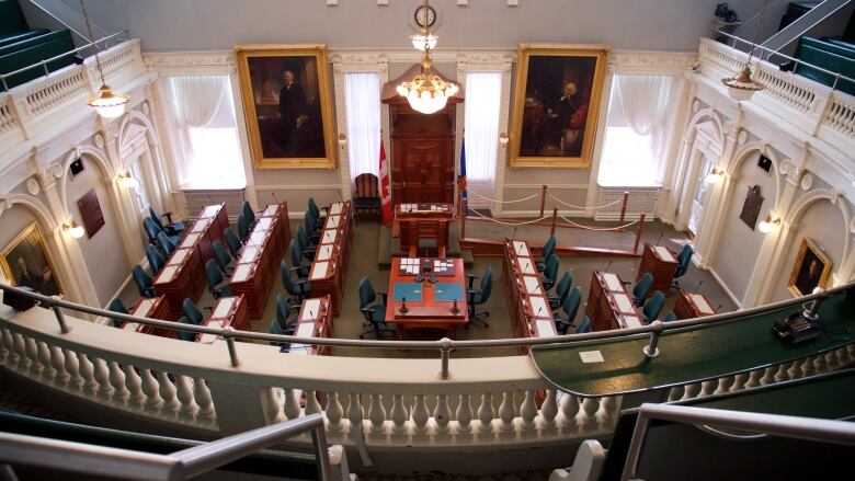
[[[438,256],[445,256],[448,247],[448,224],[454,220],[452,204],[398,204],[395,206],[395,221],[401,242],[401,250],[417,255],[419,238],[436,239]]]

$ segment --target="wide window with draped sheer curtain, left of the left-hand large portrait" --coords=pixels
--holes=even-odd
[[[246,186],[228,76],[175,76],[164,83],[182,186]]]

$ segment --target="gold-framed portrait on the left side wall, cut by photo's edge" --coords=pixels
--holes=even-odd
[[[47,257],[45,243],[33,222],[0,253],[3,274],[14,286],[26,286],[45,296],[61,296],[62,288]]]

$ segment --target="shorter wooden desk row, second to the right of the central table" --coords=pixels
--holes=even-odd
[[[585,314],[592,331],[638,328],[643,317],[632,304],[632,296],[624,289],[617,274],[594,271],[588,294]]]

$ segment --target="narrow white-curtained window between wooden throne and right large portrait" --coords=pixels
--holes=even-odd
[[[464,139],[467,188],[488,198],[493,197],[495,182],[501,94],[501,72],[466,72]],[[489,207],[490,203],[470,195],[469,205]]]

